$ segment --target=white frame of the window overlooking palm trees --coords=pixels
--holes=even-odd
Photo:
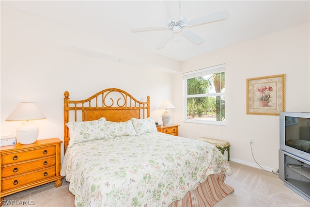
[[[187,98],[189,97],[203,97],[203,96],[225,96],[225,92],[210,93],[203,95],[187,95],[187,79],[197,78],[200,76],[210,75],[214,73],[225,72],[225,64],[220,64],[212,67],[203,68],[200,70],[194,70],[191,72],[183,73],[183,92],[184,92],[184,122],[198,123],[198,124],[211,124],[225,126],[225,121],[211,121],[211,120],[198,120],[187,118]]]

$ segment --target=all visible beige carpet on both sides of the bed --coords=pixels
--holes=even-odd
[[[234,192],[219,201],[215,207],[309,207],[310,202],[291,191],[279,176],[230,161],[233,174],[226,176],[225,183]],[[2,207],[22,207],[18,203],[34,202],[33,207],[74,207],[74,195],[68,190],[69,183],[64,179],[62,186],[54,187],[48,183],[27,191],[4,197],[5,202],[14,201],[17,205]]]

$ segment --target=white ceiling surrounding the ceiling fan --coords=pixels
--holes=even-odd
[[[187,20],[226,9],[225,20],[190,27],[204,39],[195,45],[180,33],[164,48],[156,49],[169,30],[130,32],[132,27],[166,26],[169,18],[162,0],[111,1],[3,1],[33,15],[94,32],[120,44],[184,61],[239,42],[309,21],[310,1],[181,0]],[[175,41],[176,39],[176,41]]]

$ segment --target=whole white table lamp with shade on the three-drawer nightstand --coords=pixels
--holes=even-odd
[[[31,144],[37,140],[39,128],[33,125],[30,120],[46,118],[33,102],[21,102],[5,120],[25,121],[16,129],[16,138],[21,144]]]

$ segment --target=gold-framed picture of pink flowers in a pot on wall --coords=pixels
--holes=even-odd
[[[247,114],[285,111],[285,74],[247,79]]]

